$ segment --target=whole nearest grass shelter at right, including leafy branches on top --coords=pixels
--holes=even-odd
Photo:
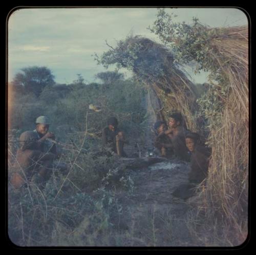
[[[232,244],[239,245],[248,217],[248,27],[209,28],[197,18],[191,25],[173,19],[160,9],[151,31],[179,61],[194,60],[198,72],[210,72],[208,92],[198,99],[212,148],[205,206],[233,226]]]

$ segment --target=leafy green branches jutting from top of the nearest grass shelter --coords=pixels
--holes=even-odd
[[[148,29],[172,49],[177,61],[189,63],[196,60],[197,71],[207,71],[212,67],[212,63],[205,53],[208,53],[209,41],[216,36],[217,32],[201,24],[196,17],[193,17],[190,25],[185,21],[174,22],[176,16],[167,14],[164,9],[159,9],[153,28]]]

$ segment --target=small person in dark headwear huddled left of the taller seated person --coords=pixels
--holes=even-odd
[[[169,136],[164,133],[167,129],[165,123],[163,121],[157,121],[154,128],[157,135],[154,141],[154,146],[159,150],[162,157],[172,157],[173,144]]]

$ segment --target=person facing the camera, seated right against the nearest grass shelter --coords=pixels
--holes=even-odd
[[[200,143],[197,133],[185,135],[186,146],[191,152],[188,183],[180,185],[174,192],[175,197],[187,199],[195,195],[196,186],[207,177],[210,149]]]

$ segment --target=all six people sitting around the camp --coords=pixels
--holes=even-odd
[[[163,121],[157,121],[154,125],[154,146],[163,157],[176,156],[181,160],[190,160],[189,183],[200,183],[207,175],[210,151],[200,142],[199,135],[187,130],[183,123],[179,113],[169,116],[168,126]],[[20,146],[16,159],[23,174],[13,176],[11,183],[16,188],[27,181],[35,182],[40,188],[44,188],[52,173],[50,169],[53,169],[54,160],[58,156],[54,143],[55,135],[49,132],[48,117],[38,117],[35,124],[35,130],[25,131],[19,137]],[[110,149],[111,154],[127,157],[123,150],[127,141],[124,132],[118,128],[115,117],[109,118],[107,126],[102,129],[102,143],[104,148]],[[67,169],[67,166],[64,164],[60,168]]]

